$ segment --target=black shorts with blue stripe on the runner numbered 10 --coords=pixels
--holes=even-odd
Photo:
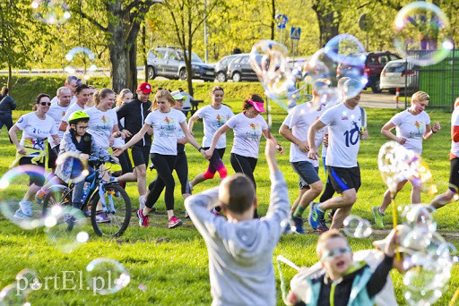
[[[359,191],[361,185],[359,166],[351,168],[326,166],[326,168],[328,170],[330,182],[336,192],[342,193],[342,191],[347,191],[352,188],[354,188],[356,192]]]

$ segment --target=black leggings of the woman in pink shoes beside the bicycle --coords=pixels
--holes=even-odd
[[[166,209],[174,209],[174,188],[176,187],[176,183],[174,181],[174,177],[172,176],[172,170],[176,165],[177,156],[152,153],[150,157],[152,158],[152,163],[158,173],[158,179],[156,180],[152,191],[148,194],[145,206],[147,208],[152,208],[156,201],[160,198],[162,190],[166,187],[166,193],[164,194]]]

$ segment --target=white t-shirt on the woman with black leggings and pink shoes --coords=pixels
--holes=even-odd
[[[147,115],[145,123],[152,125],[153,143],[150,153],[161,155],[177,155],[178,130],[180,123],[185,123],[186,117],[177,109],[169,113],[161,113],[159,109]]]

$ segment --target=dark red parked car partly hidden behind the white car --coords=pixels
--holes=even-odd
[[[368,52],[365,55],[367,55],[365,60],[365,72],[368,75],[367,87],[373,92],[381,92],[379,78],[385,64],[400,59],[400,56],[389,51]]]

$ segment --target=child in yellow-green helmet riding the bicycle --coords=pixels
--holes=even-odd
[[[94,141],[88,130],[88,121],[90,117],[83,111],[75,111],[68,118],[70,128],[64,133],[63,139],[60,144],[60,154],[65,152],[79,153],[80,157],[89,159],[90,155],[100,157],[104,160],[113,160],[117,163],[117,157],[112,157],[108,151],[101,149],[100,146]],[[89,167],[89,175],[94,173],[94,169]],[[105,180],[108,181],[108,174],[104,172]],[[74,192],[72,195],[72,207],[81,208],[82,205],[82,190],[85,180],[82,182],[74,183]],[[109,219],[104,212],[98,213],[96,216],[98,222],[108,222]]]

